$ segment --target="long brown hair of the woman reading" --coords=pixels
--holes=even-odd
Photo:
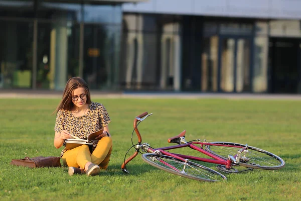
[[[63,110],[69,110],[71,111],[74,104],[72,102],[72,93],[74,89],[83,87],[85,89],[85,93],[87,94],[87,104],[91,103],[91,96],[90,96],[90,90],[88,87],[88,84],[85,82],[85,80],[83,80],[81,77],[72,77],[70,78],[67,83],[66,86],[64,88],[63,91],[63,98],[60,102],[60,104],[58,105],[57,109],[55,110],[55,113],[57,113],[59,110],[63,109]]]

